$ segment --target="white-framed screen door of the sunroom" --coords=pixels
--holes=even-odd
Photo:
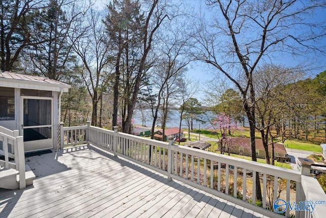
[[[25,152],[52,148],[52,98],[23,96],[21,103]]]

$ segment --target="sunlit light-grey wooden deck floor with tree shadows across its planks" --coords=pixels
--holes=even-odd
[[[0,217],[263,217],[92,146],[25,160],[34,185],[0,189]]]

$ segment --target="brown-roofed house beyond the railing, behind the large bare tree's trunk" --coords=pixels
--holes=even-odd
[[[232,137],[229,139],[232,140],[228,143],[231,144],[231,146],[227,148],[230,153],[251,156],[251,149],[248,149],[250,148],[250,138]],[[271,145],[268,146],[268,152],[269,156],[271,156]],[[284,144],[274,143],[274,156],[278,159],[283,159],[286,158],[286,155],[287,152],[284,148]],[[265,150],[261,139],[256,139],[256,156],[258,158],[265,158]]]

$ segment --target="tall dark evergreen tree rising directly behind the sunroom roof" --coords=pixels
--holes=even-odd
[[[67,19],[60,4],[63,3],[51,0],[32,13],[30,29],[34,34],[25,55],[30,56],[33,74],[66,82],[77,60],[68,38],[72,20]]]

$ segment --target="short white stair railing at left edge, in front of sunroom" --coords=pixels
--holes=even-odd
[[[23,136],[18,135],[18,130],[11,131],[0,126],[0,142],[2,144],[0,155],[5,157],[5,160],[0,160],[0,165],[16,169],[19,172],[19,188],[23,189],[26,187],[24,142]]]

